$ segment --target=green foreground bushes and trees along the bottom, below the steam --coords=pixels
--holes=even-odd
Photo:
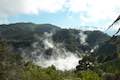
[[[54,66],[41,68],[32,62],[24,62],[20,55],[12,53],[7,44],[0,41],[0,79],[1,80],[119,80],[120,59],[96,62],[93,55],[80,60],[82,69],[59,71]],[[81,63],[82,61],[82,63]],[[88,64],[91,62],[92,64]],[[83,64],[83,65],[81,65]],[[88,66],[89,65],[89,66]],[[79,67],[80,67],[79,66]],[[88,66],[88,67],[87,67]]]

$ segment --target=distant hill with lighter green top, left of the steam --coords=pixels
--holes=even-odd
[[[51,24],[15,23],[0,25],[0,37],[15,48],[23,48],[30,47],[36,41],[34,35],[43,36],[44,32],[53,32],[59,29]]]

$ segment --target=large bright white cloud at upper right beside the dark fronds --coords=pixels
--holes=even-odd
[[[69,0],[68,4],[69,11],[80,13],[82,25],[106,26],[120,13],[120,0]]]

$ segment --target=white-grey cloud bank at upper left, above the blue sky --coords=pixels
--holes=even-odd
[[[37,14],[39,11],[56,12],[62,10],[66,0],[0,0],[0,14]]]

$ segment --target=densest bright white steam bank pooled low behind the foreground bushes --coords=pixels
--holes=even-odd
[[[61,57],[56,56],[56,58],[52,57],[49,60],[43,58],[43,56],[39,56],[36,64],[42,67],[49,67],[54,65],[57,69],[62,71],[74,69],[76,65],[78,65],[78,61],[80,59],[72,53],[66,54],[68,54],[66,57],[62,57],[63,55],[61,55]]]

